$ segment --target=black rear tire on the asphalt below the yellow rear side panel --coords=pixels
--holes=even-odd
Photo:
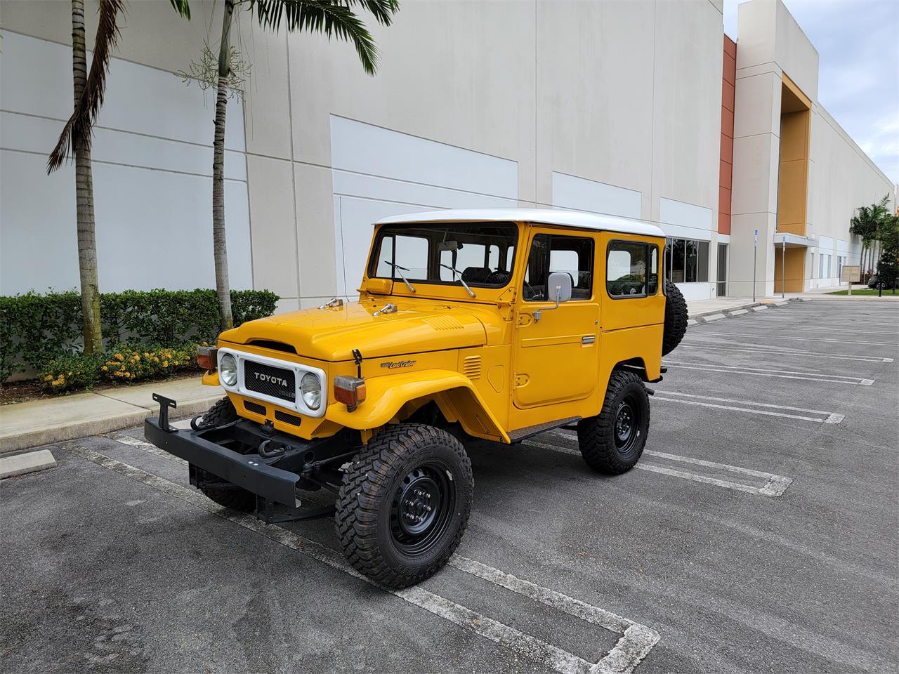
[[[617,423],[624,404],[632,410],[632,431],[636,435],[632,444],[622,448],[617,442]],[[599,415],[578,422],[577,444],[587,466],[600,473],[618,475],[636,466],[648,433],[649,395],[643,380],[630,370],[616,369],[609,377],[606,399]]]

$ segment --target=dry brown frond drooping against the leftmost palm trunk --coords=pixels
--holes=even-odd
[[[106,74],[109,72],[112,49],[115,49],[121,35],[118,17],[124,9],[123,0],[100,0],[97,37],[93,41],[93,61],[87,74],[85,91],[59,134],[57,146],[49,155],[47,173],[56,171],[74,153],[76,140],[85,142],[88,148],[91,146],[93,124],[106,93]]]

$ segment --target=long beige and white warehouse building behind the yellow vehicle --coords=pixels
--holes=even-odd
[[[214,100],[176,73],[216,40],[220,3],[194,0],[191,22],[163,0],[128,6],[93,151],[101,288],[210,287]],[[756,230],[759,295],[836,285],[859,260],[854,208],[895,204],[895,186],[817,102],[817,53],[786,7],[740,5],[735,45],[722,10],[407,0],[374,30],[374,78],[344,43],[242,13],[233,287],[282,309],[352,297],[372,221],[508,206],[662,226],[688,298],[751,296]],[[71,111],[68,4],[2,0],[0,24],[0,294],[75,288],[73,172],[44,169]]]

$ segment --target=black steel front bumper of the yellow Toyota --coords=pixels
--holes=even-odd
[[[156,417],[144,421],[144,437],[156,447],[247,492],[292,508],[301,475],[291,469],[301,471],[307,463],[304,457],[298,456],[307,450],[307,443],[291,438],[293,451],[288,450],[274,460],[258,453],[242,454],[224,446],[238,439],[250,439],[246,436],[258,437],[258,429],[259,424],[252,421],[238,421],[223,429],[163,430]],[[273,466],[275,463],[284,467]]]

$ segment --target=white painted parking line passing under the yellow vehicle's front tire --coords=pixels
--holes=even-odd
[[[125,437],[134,440],[134,442],[125,443],[132,447],[146,449],[144,445],[149,444],[130,438],[130,436]],[[130,466],[117,459],[107,457],[93,449],[81,447],[74,443],[68,443],[64,448],[98,466],[147,484],[147,486],[153,487],[160,492],[165,492],[175,498],[186,501],[201,510],[207,510],[240,527],[280,543],[280,545],[285,545],[298,553],[328,564],[338,571],[351,575],[353,578],[376,585],[346,563],[342,554],[309,538],[298,536],[289,529],[277,525],[266,526],[261,520],[254,518],[252,515],[222,508],[213,501],[209,501],[198,491],[173,483],[159,475],[147,473],[147,471]],[[422,587],[385,591],[389,591],[396,597],[404,599],[416,607],[423,608],[435,616],[440,616],[459,627],[471,630],[485,637],[485,639],[518,652],[531,661],[546,665],[548,668],[559,672],[559,674],[629,674],[633,672],[640,661],[645,658],[660,639],[658,633],[645,625],[639,625],[610,611],[605,611],[579,599],[568,597],[561,592],[556,592],[556,590],[543,588],[530,581],[522,581],[511,574],[469,560],[466,557],[453,555],[450,559],[450,564],[460,571],[470,573],[485,581],[493,582],[525,597],[530,597],[530,599],[539,601],[546,606],[557,608],[570,616],[580,617],[611,632],[621,633],[621,637],[608,654],[599,662],[593,663],[551,643],[541,641],[530,634],[524,634],[514,627],[505,625],[493,618],[476,613],[476,611],[468,607],[457,604],[429,590],[424,590]]]

